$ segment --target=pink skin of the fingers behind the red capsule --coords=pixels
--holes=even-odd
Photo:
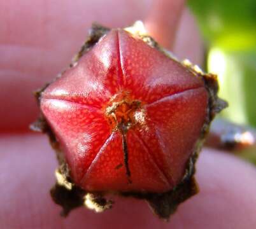
[[[27,130],[38,112],[31,91],[68,66],[92,21],[122,27],[142,19],[178,57],[202,61],[202,42],[183,1],[153,1],[150,8],[151,2],[0,1],[1,228],[256,228],[255,168],[211,149],[197,163],[200,193],[169,223],[128,198],[103,214],[81,208],[63,219],[50,199],[57,162],[46,137]]]

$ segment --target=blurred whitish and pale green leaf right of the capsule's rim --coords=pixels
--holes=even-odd
[[[218,74],[220,97],[229,101],[222,116],[256,127],[256,54],[211,48],[208,68]]]

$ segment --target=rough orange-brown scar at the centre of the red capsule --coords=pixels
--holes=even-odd
[[[128,95],[115,95],[106,108],[106,116],[113,130],[125,133],[139,120],[142,120],[141,102],[132,100]],[[140,117],[140,118],[138,118]]]

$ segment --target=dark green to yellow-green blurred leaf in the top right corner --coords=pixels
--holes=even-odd
[[[204,37],[227,50],[256,50],[255,0],[190,0]]]

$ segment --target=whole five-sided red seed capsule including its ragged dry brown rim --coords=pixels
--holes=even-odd
[[[197,153],[225,106],[217,78],[134,28],[94,25],[71,67],[37,94],[60,162],[52,195],[66,213],[104,210],[104,195],[118,193],[167,219],[197,192]]]

